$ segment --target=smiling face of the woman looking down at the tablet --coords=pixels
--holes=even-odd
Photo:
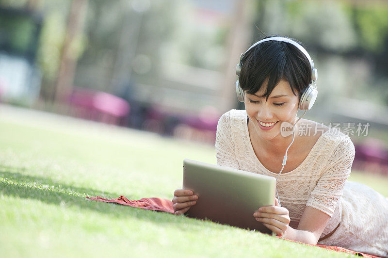
[[[280,126],[283,121],[294,124],[298,112],[299,97],[292,93],[288,81],[281,80],[266,101],[265,97],[259,96],[265,93],[267,81],[255,95],[245,92],[244,104],[249,120],[251,120],[259,137],[263,140],[272,140],[275,137],[282,137]]]

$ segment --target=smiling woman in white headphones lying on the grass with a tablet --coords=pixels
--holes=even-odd
[[[215,147],[218,165],[277,178],[281,206],[276,199],[275,206],[252,215],[285,239],[388,256],[388,200],[346,182],[355,156],[352,141],[297,117],[298,108],[310,109],[316,97],[311,85],[317,74],[307,51],[295,40],[266,37],[242,55],[238,67],[236,87],[245,110],[222,115]],[[282,135],[288,123],[292,137]],[[174,212],[185,213],[197,199],[176,190]]]

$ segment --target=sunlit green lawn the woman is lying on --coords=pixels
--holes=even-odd
[[[350,257],[208,221],[90,201],[85,197],[171,199],[182,184],[182,160],[215,163],[214,148],[0,110],[0,257]]]

